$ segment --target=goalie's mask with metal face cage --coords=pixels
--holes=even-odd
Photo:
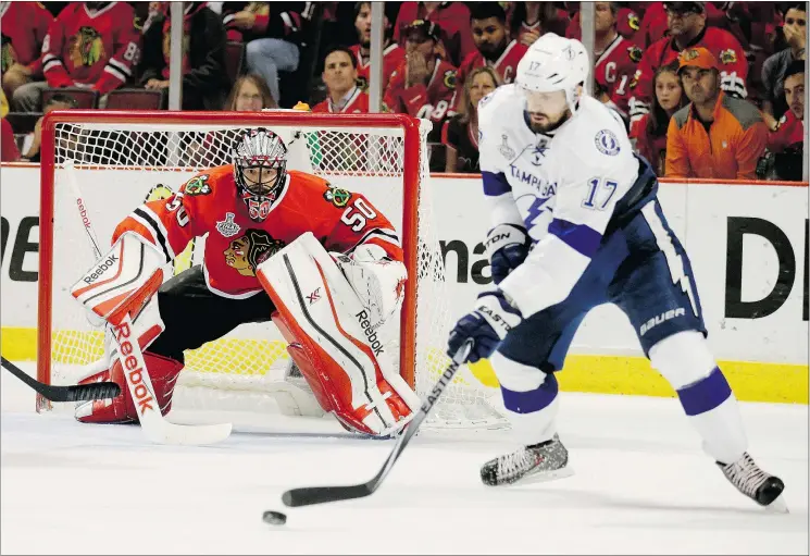
[[[236,190],[250,220],[263,222],[281,196],[287,177],[287,147],[264,127],[248,129],[233,151]]]

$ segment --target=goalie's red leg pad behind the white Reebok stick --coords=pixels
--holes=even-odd
[[[144,351],[144,360],[152,380],[154,397],[160,411],[162,415],[166,415],[172,408],[172,394],[177,376],[183,370],[183,363],[149,351]],[[112,354],[112,361],[109,369],[83,379],[79,384],[112,381],[121,386],[122,394],[113,399],[94,399],[79,403],[76,406],[76,420],[83,423],[129,423],[138,420],[138,408],[129,395],[124,369],[116,353]]]

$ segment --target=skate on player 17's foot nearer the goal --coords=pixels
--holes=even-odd
[[[574,474],[568,467],[569,452],[554,434],[550,441],[525,446],[484,464],[481,480],[489,486],[544,482]]]

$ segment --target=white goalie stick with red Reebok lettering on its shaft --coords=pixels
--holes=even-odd
[[[87,214],[86,206],[82,199],[82,190],[78,186],[73,160],[65,161],[64,170],[65,175],[67,176],[67,183],[75,196],[78,215],[82,219],[82,224],[87,233],[87,239],[92,249],[92,255],[96,260],[99,260],[102,255],[101,249],[99,248],[99,242],[92,222]],[[116,334],[116,332],[123,330],[133,330],[132,318],[126,314],[117,328],[110,324],[107,324],[107,326],[111,329],[110,335],[119,348],[117,351],[121,357],[122,367],[124,369],[130,369],[130,367],[124,363],[123,354],[127,354],[127,359],[132,357],[137,361],[137,366],[132,367],[134,371],[124,372],[124,376],[126,385],[129,388],[129,394],[140,409],[140,428],[148,440],[157,444],[185,444],[198,446],[202,444],[214,444],[224,441],[230,435],[230,430],[233,428],[230,423],[183,425],[172,423],[164,419],[160,412],[160,408],[152,408],[149,405],[149,401],[154,398],[154,388],[152,387],[152,381],[149,378],[149,371],[144,360],[144,351],[140,349],[137,338],[134,338],[134,341],[130,342],[126,337],[123,337],[122,341],[120,334]],[[123,344],[127,344],[126,350],[122,349]]]

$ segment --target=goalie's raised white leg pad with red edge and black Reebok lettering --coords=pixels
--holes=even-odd
[[[407,400],[415,394],[403,381],[386,380],[390,371],[375,355],[384,347],[364,333],[357,294],[312,234],[261,263],[257,277],[276,307],[273,320],[290,356],[325,410],[344,425],[375,435],[390,434],[413,418]]]

